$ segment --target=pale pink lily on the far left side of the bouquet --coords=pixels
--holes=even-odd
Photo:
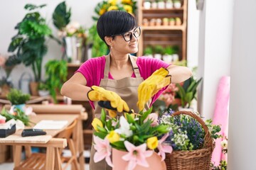
[[[95,155],[93,157],[94,162],[100,162],[102,159],[105,159],[107,164],[113,167],[113,164],[110,159],[111,155],[111,146],[109,140],[105,138],[104,140],[100,139],[100,137],[94,136],[95,141]]]

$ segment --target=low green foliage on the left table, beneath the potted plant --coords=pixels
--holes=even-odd
[[[15,108],[16,111],[14,114],[9,113],[9,111],[6,111],[5,108],[1,110],[1,115],[6,118],[6,122],[14,119],[14,120],[21,120],[21,122],[24,123],[24,125],[28,126],[29,125],[29,117],[26,115],[23,111],[21,111],[18,108]]]

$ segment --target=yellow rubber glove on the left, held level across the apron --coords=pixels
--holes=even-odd
[[[129,112],[127,103],[113,91],[107,91],[99,86],[92,86],[92,90],[88,92],[87,96],[90,101],[110,101],[112,108],[117,108],[118,112]]]

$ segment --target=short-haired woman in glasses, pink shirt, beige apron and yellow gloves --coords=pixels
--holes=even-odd
[[[127,12],[108,11],[103,14],[97,21],[97,33],[110,48],[110,54],[82,64],[63,84],[61,94],[79,101],[90,101],[98,118],[101,108],[97,101],[110,101],[111,106],[119,111],[117,114],[130,109],[138,113],[144,107],[149,108],[171,81],[180,83],[191,77],[187,67],[129,55],[138,51],[141,29]],[[91,158],[94,152],[92,147]],[[104,161],[95,164],[90,159],[90,169],[110,167]]]

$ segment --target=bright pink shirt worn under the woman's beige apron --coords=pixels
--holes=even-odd
[[[105,62],[105,56],[92,58],[84,62],[76,72],[80,72],[85,77],[87,86],[100,86],[100,80],[104,78]],[[166,62],[151,57],[138,57],[136,64],[139,67],[139,73],[144,80],[151,76],[156,69],[160,69],[161,67],[169,67],[169,64]],[[132,74],[132,77],[135,77],[134,73]],[[110,73],[109,79],[113,79]],[[164,87],[152,97],[150,106],[166,88],[167,87]],[[95,108],[92,102],[90,102],[90,105],[92,108]]]

